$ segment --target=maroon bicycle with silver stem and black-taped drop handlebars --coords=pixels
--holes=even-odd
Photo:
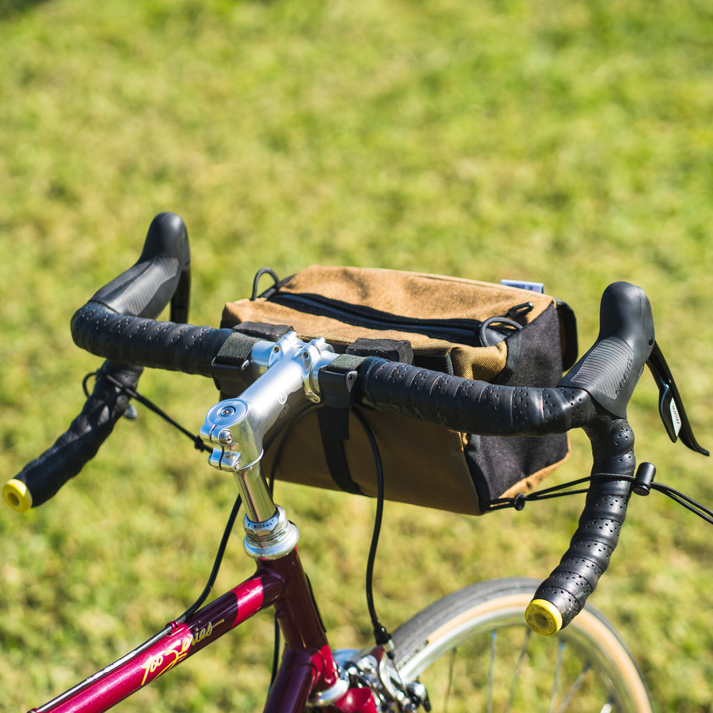
[[[94,456],[130,399],[140,398],[136,387],[144,367],[201,374],[222,383],[248,374],[252,384],[239,397],[212,406],[200,429],[200,445],[210,453],[210,464],[232,473],[240,492],[214,572],[203,595],[183,615],[33,712],[110,709],[270,607],[284,649],[281,662],[274,665],[266,712],[306,707],[343,713],[415,712],[434,705],[449,711],[491,711],[497,704],[506,710],[531,710],[540,701],[550,711],[652,710],[645,682],[622,640],[602,615],[585,608],[585,602],[607,568],[632,493],[656,489],[709,521],[713,513],[655,483],[650,464],[642,463],[635,471],[626,408],[647,364],[660,388],[660,415],[671,440],[680,438],[707,455],[692,434],[655,342],[650,305],[640,288],[627,283],[607,288],[600,334],[558,386],[511,387],[374,356],[337,354],[323,340],[303,342],[294,332],[271,342],[231,329],[186,324],[189,265],[183,222],[163,214],[152,224],[136,265],[76,312],[76,343],[107,361],[96,374],[81,416],[6,484],[3,495],[18,511],[51,498]],[[171,321],[156,322],[169,303]],[[218,354],[227,359],[217,363]],[[476,434],[539,436],[584,429],[593,446],[593,470],[585,478],[590,485],[578,529],[560,565],[540,585],[522,579],[470,585],[434,602],[392,633],[381,625],[369,596],[375,642],[332,650],[297,555],[299,532],[275,505],[261,469],[266,438],[279,427],[285,406],[309,407],[327,399],[346,399]],[[378,448],[374,458],[378,463]],[[547,491],[503,498],[495,506],[520,508],[543,495]],[[369,592],[383,499],[380,481]],[[255,575],[204,606],[241,503],[244,546],[256,562]],[[467,672],[456,666],[456,652],[463,651],[466,655],[458,662],[468,664]],[[496,679],[498,657],[511,673],[507,682]]]

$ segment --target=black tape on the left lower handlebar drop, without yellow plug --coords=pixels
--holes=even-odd
[[[129,397],[108,377],[111,376],[123,386],[135,389],[141,371],[143,369],[140,367],[115,364],[111,361],[102,365],[94,389],[81,414],[50,448],[28,463],[13,479],[24,483],[32,507],[47,501],[81,471],[96,455],[99,446],[111,434],[114,424],[126,410]],[[11,502],[9,504],[13,505]]]

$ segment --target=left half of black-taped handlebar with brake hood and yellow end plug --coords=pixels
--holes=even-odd
[[[210,364],[229,329],[193,327],[154,319],[171,303],[176,319],[188,318],[190,247],[183,220],[160,213],[148,229],[138,261],[98,290],[74,314],[79,347],[103,356],[105,374],[65,434],[3,488],[16,510],[54,495],[98,451],[123,414],[128,397],[106,374],[135,390],[143,366],[210,376]],[[130,364],[132,366],[122,366]]]

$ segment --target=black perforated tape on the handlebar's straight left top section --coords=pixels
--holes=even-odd
[[[193,327],[115,314],[88,302],[72,317],[78,347],[113,361],[211,376],[210,364],[230,337],[230,329]]]

